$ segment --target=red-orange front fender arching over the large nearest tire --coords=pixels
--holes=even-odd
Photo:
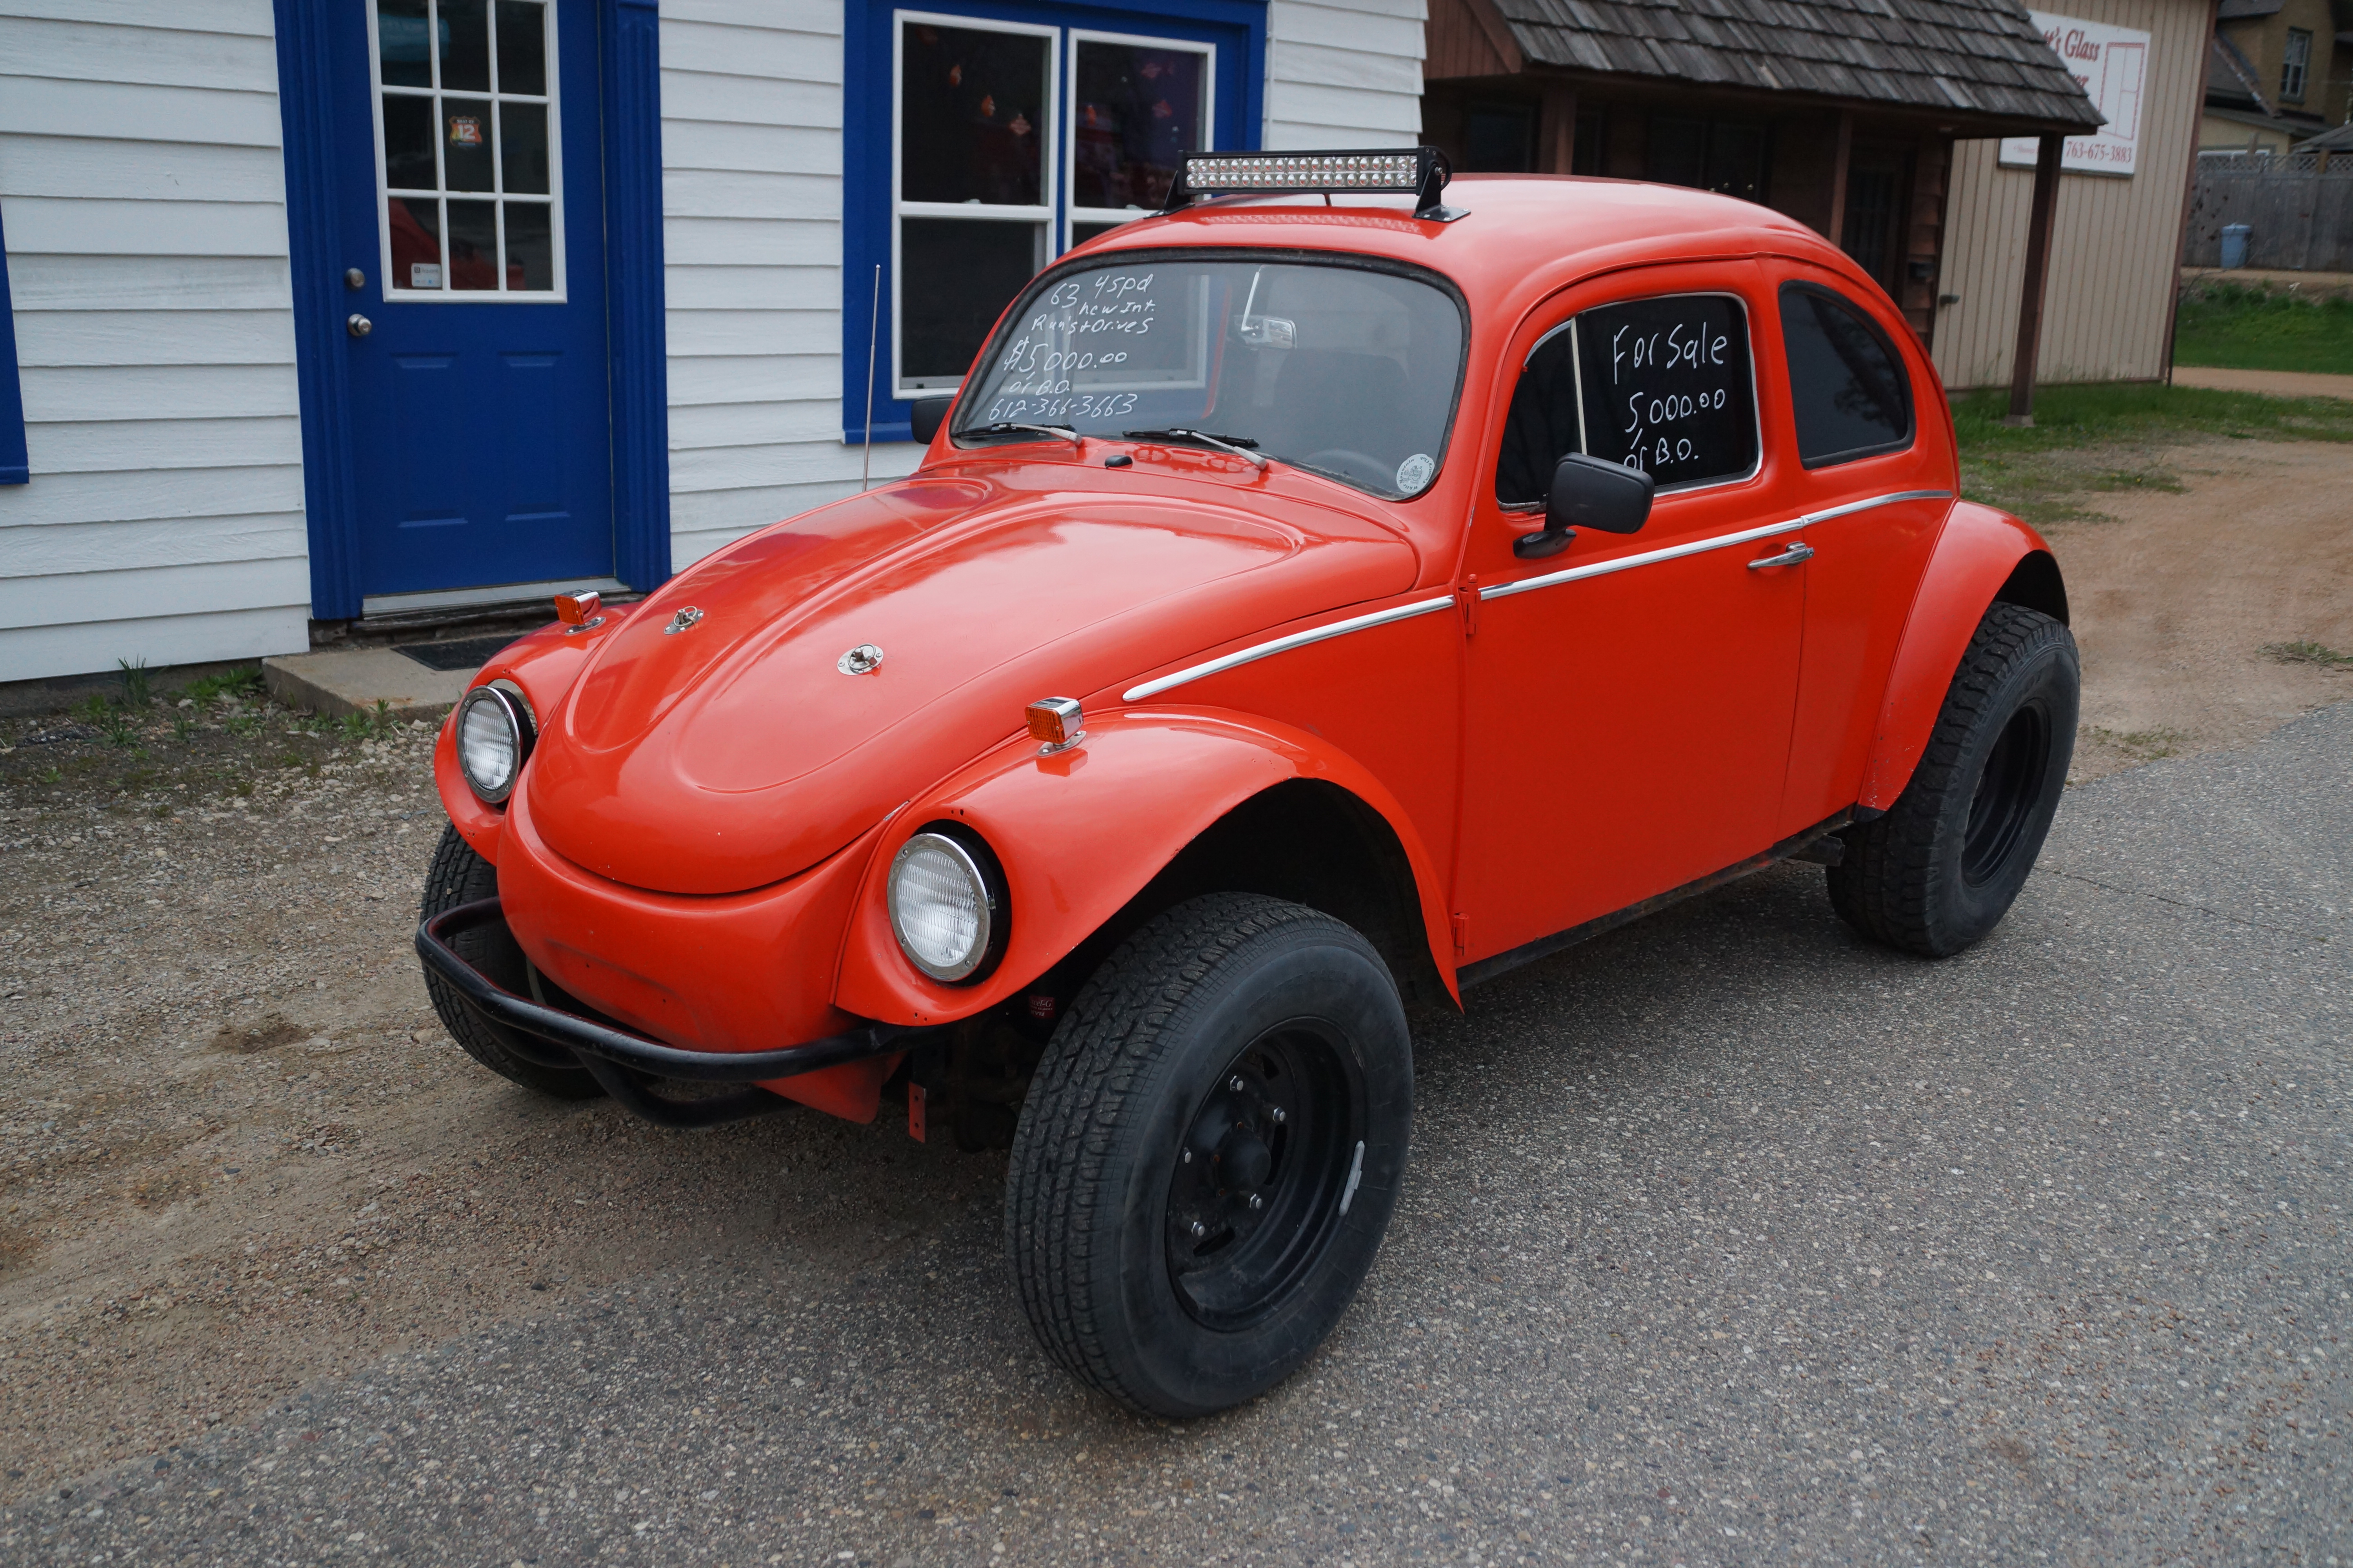
[[[835,1004],[882,1023],[944,1023],[1005,1001],[1127,905],[1245,799],[1294,778],[1346,790],[1398,835],[1438,973],[1454,992],[1440,882],[1412,818],[1353,757],[1306,731],[1209,708],[1087,715],[1087,738],[1040,757],[1028,736],[908,802],[875,844],[849,917]],[[889,929],[892,856],[927,823],[962,823],[1005,865],[1005,959],[979,985],[922,976]],[[1459,994],[1457,994],[1459,999]]]

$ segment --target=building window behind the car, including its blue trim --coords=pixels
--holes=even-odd
[[[852,440],[864,437],[868,348],[875,440],[906,440],[906,400],[960,386],[1038,268],[1158,212],[1184,153],[1257,143],[1264,7],[1249,0],[1153,12],[871,5],[852,12],[849,45]]]

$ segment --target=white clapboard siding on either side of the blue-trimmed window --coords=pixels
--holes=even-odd
[[[1414,143],[1424,12],[1275,0],[1266,146]],[[671,559],[685,567],[859,484],[861,449],[840,437],[840,0],[664,0],[661,167]],[[875,475],[915,456],[878,447]]]

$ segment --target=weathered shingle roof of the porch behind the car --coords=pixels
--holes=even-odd
[[[2101,122],[2019,0],[1489,0],[1529,61],[1889,108]]]

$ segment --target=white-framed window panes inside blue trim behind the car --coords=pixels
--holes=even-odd
[[[1047,261],[1209,146],[1205,42],[896,12],[892,395],[953,388]],[[854,299],[854,284],[852,284]]]

